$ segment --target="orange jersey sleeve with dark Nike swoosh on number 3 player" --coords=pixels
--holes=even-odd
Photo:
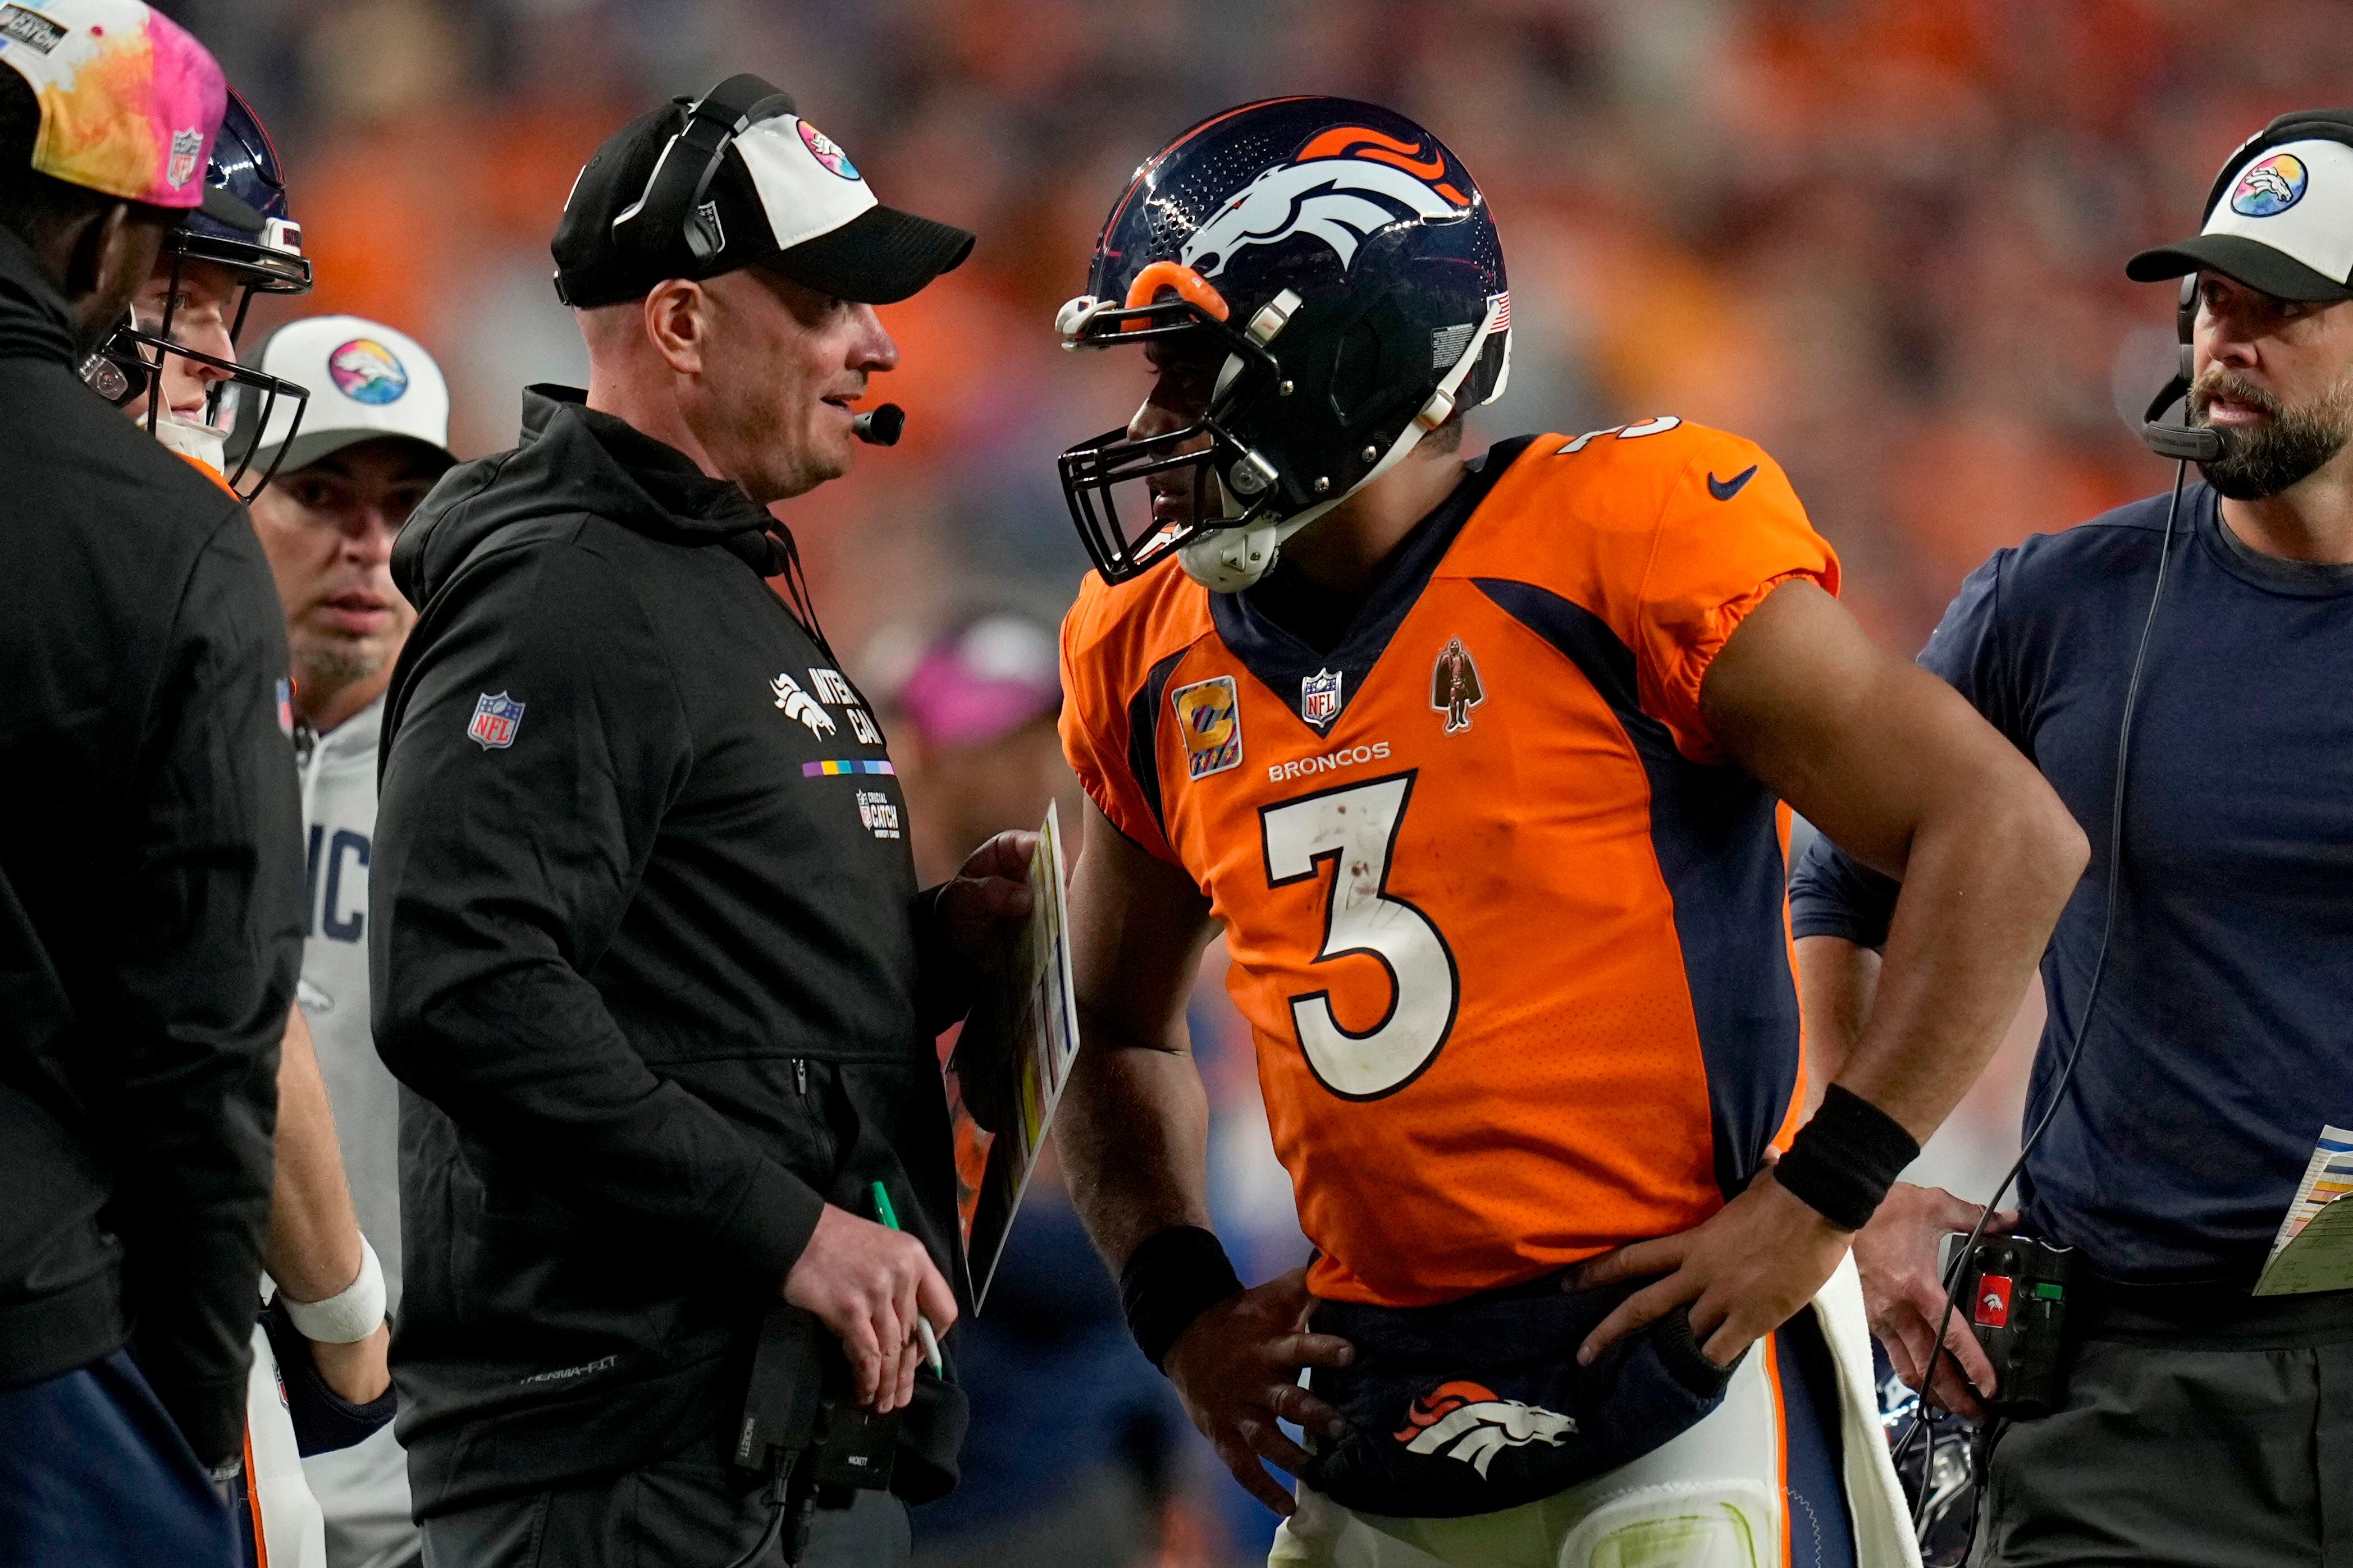
[[[1739,623],[1791,578],[1838,592],[1838,555],[1805,517],[1788,475],[1762,447],[1697,433],[1666,489],[1635,607],[1642,708],[1692,762],[1722,762],[1699,715],[1699,684]]]

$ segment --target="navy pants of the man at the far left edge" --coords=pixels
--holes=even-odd
[[[129,1352],[0,1389],[0,1563],[231,1568],[238,1537]]]

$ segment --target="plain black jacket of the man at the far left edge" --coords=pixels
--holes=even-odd
[[[73,374],[0,230],[0,1387],[134,1338],[238,1453],[301,964],[285,623],[226,491]]]

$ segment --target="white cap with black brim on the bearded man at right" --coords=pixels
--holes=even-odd
[[[2205,228],[2125,263],[2134,282],[2212,268],[2273,299],[2353,299],[2353,110],[2280,115],[2224,165]]]

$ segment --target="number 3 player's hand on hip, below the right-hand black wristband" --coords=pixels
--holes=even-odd
[[[1758,1171],[1739,1194],[1701,1225],[1657,1241],[1635,1241],[1579,1265],[1565,1291],[1664,1274],[1617,1305],[1577,1349],[1591,1363],[1612,1342],[1675,1307],[1689,1307],[1692,1338],[1715,1366],[1732,1366],[1814,1300],[1847,1255],[1854,1232],[1838,1229],[1802,1199]]]

